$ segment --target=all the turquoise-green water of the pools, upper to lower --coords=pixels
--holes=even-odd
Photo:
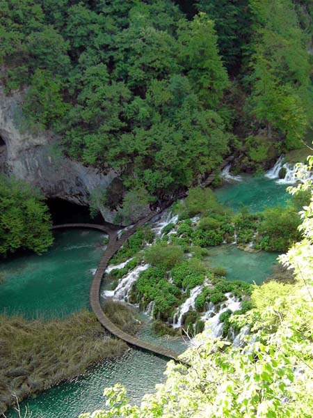
[[[234,210],[239,210],[243,203],[255,212],[266,205],[284,205],[288,199],[286,186],[276,183],[273,178],[232,178],[229,173],[226,175],[231,183],[226,183],[216,193],[222,203],[232,206]],[[161,231],[166,222],[162,217],[154,227]],[[54,246],[47,254],[16,256],[1,263],[0,273],[4,282],[0,287],[0,312],[8,315],[18,313],[26,318],[49,318],[88,308],[90,281],[103,251],[104,236],[97,231],[58,231],[55,233]],[[271,274],[277,258],[277,254],[263,251],[250,254],[227,245],[209,251],[207,263],[223,265],[227,270],[227,279],[241,279],[250,283],[255,281],[257,284]],[[104,286],[102,295],[108,291],[109,286]],[[121,287],[122,295],[123,291]],[[230,298],[228,304],[232,306],[237,302]],[[138,335],[140,338],[165,345],[178,353],[186,349],[188,341],[181,338],[153,336],[149,316],[143,313],[139,315],[144,323]],[[211,318],[211,322],[214,319]],[[143,394],[153,392],[154,386],[165,380],[165,370],[166,360],[129,349],[122,357],[100,362],[83,376],[60,383],[24,401],[21,409],[23,411],[28,405],[33,418],[77,418],[82,412],[104,407],[103,389],[116,382],[124,384],[131,401],[138,403]],[[6,416],[18,417],[14,410]]]

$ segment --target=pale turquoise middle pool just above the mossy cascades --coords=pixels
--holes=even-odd
[[[209,249],[205,262],[208,267],[223,267],[228,280],[243,280],[262,284],[270,276],[277,263],[278,253],[259,251],[248,253],[234,245],[222,245]]]

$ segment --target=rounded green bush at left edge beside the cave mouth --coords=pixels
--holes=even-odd
[[[22,181],[0,176],[0,256],[19,248],[47,251],[53,242],[50,227],[42,196]]]

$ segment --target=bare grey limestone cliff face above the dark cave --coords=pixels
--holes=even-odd
[[[88,205],[93,189],[105,190],[118,178],[113,169],[104,174],[57,153],[57,139],[51,132],[20,130],[17,115],[21,104],[21,94],[6,96],[0,88],[0,171],[25,180],[47,197],[79,205]],[[100,210],[106,222],[113,222],[115,211]]]

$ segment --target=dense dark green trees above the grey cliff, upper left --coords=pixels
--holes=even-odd
[[[228,85],[213,23],[170,0],[1,2],[6,90],[26,86],[29,127],[155,194],[189,185],[227,152]]]

